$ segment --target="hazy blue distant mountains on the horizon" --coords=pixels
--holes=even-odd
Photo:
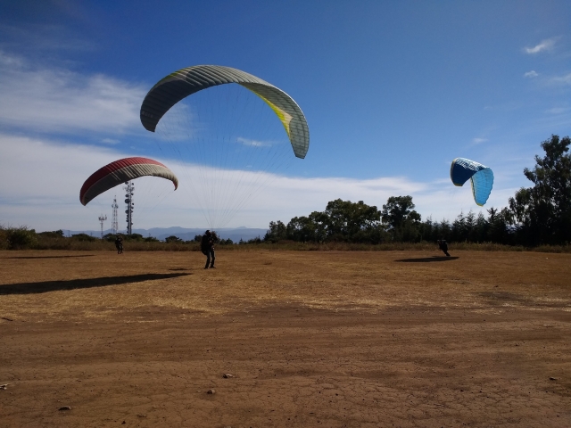
[[[188,227],[179,227],[179,226],[172,226],[172,227],[153,227],[151,229],[133,229],[134,234],[139,234],[145,236],[153,236],[160,241],[164,241],[164,239],[168,236],[177,236],[178,238],[182,239],[183,241],[191,241],[194,239],[195,235],[203,235],[206,229],[197,229],[197,228],[188,228]],[[77,234],[87,234],[92,236],[100,236],[100,230],[64,230],[65,235],[77,235]],[[256,238],[260,236],[261,238],[266,235],[267,229],[256,229],[250,227],[236,227],[236,228],[222,228],[216,230],[216,233],[219,235],[220,239],[231,239],[234,243],[240,242],[240,239],[243,241],[249,241],[250,239]],[[121,234],[124,234],[124,230],[120,230]],[[103,230],[103,235],[111,234],[111,229]]]

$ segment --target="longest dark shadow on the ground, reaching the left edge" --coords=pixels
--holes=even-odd
[[[72,279],[70,281],[42,281],[38,283],[20,283],[0,285],[0,296],[7,294],[35,294],[39,292],[56,292],[76,290],[78,288],[105,287],[129,283],[142,283],[157,279],[176,278],[192,274],[144,274],[131,276],[103,276],[101,278]]]

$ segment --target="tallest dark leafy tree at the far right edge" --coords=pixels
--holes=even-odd
[[[533,187],[509,198],[513,223],[526,243],[571,242],[571,139],[551,136],[542,142],[545,156],[535,156],[534,169],[524,169]]]

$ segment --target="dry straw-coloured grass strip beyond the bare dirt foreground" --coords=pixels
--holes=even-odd
[[[455,251],[3,251],[4,317],[192,314],[275,304],[377,312],[394,306],[495,310],[569,306],[569,254]]]

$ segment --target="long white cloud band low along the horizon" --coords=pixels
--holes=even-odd
[[[38,231],[97,230],[101,214],[109,218],[105,227],[111,225],[111,203],[117,195],[120,229],[124,229],[123,192],[119,186],[87,207],[79,202],[79,189],[93,171],[126,156],[110,148],[0,134],[0,170],[3,177],[10,178],[0,181],[0,224],[26,225]],[[337,198],[364,201],[380,209],[389,196],[410,194],[423,218],[432,215],[434,219],[453,219],[460,210],[480,210],[469,186],[455,187],[443,179],[420,183],[407,177],[283,177],[158,161],[177,174],[179,187],[173,192],[168,180],[137,179],[136,227],[211,226],[204,217],[204,207],[213,207],[210,213],[215,215],[217,208],[223,208],[222,202],[233,198],[242,204],[234,204],[239,210],[226,226],[266,227],[271,220],[286,222],[314,210],[325,210],[327,202]],[[204,184],[209,177],[214,177],[214,182]],[[220,191],[218,199],[211,199],[212,191]],[[487,206],[504,206],[514,191],[496,185]]]

